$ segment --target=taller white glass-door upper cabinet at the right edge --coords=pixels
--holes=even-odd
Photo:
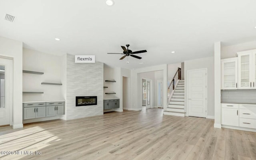
[[[238,55],[238,89],[256,89],[256,49]]]

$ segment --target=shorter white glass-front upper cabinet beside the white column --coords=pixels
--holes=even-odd
[[[238,58],[221,59],[222,89],[238,89]]]

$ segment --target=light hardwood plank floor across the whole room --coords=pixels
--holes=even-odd
[[[214,120],[162,109],[0,128],[0,160],[256,160],[256,133],[213,128]]]

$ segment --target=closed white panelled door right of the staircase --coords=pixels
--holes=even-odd
[[[206,69],[188,71],[188,115],[206,118]]]

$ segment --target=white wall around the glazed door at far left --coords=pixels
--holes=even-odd
[[[13,58],[12,128],[22,128],[22,42],[0,37],[0,55]]]

